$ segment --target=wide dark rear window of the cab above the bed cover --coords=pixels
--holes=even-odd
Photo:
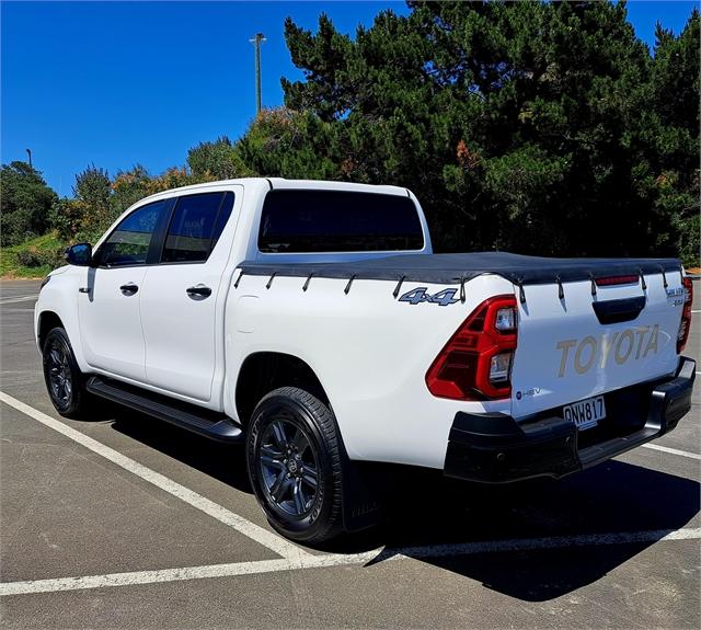
[[[277,253],[421,250],[414,202],[399,195],[347,191],[271,191],[258,250]]]

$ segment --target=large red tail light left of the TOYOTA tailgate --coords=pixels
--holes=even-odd
[[[516,331],[514,296],[483,301],[450,337],[426,373],[430,393],[453,400],[508,398]]]

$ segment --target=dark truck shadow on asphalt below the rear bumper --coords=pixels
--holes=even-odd
[[[416,547],[475,543],[471,546],[475,552],[464,555],[430,559],[418,549],[415,557],[525,602],[554,599],[596,582],[668,532],[686,527],[701,503],[698,482],[618,460],[560,481],[504,486],[440,481],[433,484],[439,490],[426,512],[405,509],[397,505],[402,493],[395,497],[381,537],[389,551],[372,562],[389,560],[391,549],[412,557]],[[644,539],[639,541],[635,535],[641,532]],[[587,536],[602,534],[620,535],[619,540],[629,542],[582,545]],[[552,549],[539,549],[533,541],[529,550],[479,552],[482,541],[544,539],[547,543],[553,537],[573,539]]]

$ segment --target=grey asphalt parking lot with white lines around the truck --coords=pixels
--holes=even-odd
[[[650,448],[518,486],[407,473],[387,525],[309,550],[267,526],[241,449],[119,410],[59,420],[37,293],[0,283],[3,628],[700,627],[699,386]]]

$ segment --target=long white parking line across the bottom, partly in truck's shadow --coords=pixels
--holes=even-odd
[[[208,564],[163,569],[157,571],[135,571],[129,573],[107,573],[53,580],[30,580],[26,582],[5,582],[0,584],[0,595],[27,595],[35,593],[56,593],[59,591],[80,591],[83,588],[105,588],[107,586],[135,586],[186,580],[206,580],[212,577],[234,577],[261,573],[278,573],[295,569],[322,569],[348,564],[367,564],[387,560],[406,560],[422,558],[445,558],[473,555],[476,553],[504,553],[513,551],[540,551],[547,549],[566,549],[572,547],[595,547],[604,545],[641,545],[669,540],[698,540],[701,528],[657,529],[648,531],[623,531],[614,534],[585,534],[581,536],[549,536],[544,538],[522,538],[493,540],[485,542],[466,542],[461,545],[437,545],[430,547],[404,547],[399,549],[374,550],[364,553],[308,555],[298,564],[287,560],[258,560],[254,562],[233,562],[230,564]]]

